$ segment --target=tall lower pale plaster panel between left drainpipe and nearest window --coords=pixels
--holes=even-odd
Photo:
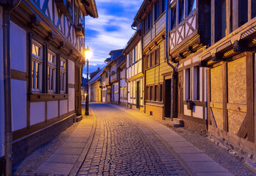
[[[13,131],[26,128],[26,81],[11,79]]]

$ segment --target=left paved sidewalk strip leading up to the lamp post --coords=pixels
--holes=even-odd
[[[83,117],[77,128],[65,139],[65,142],[46,156],[39,166],[26,168],[26,163],[30,164],[33,162],[33,158],[40,155],[40,151],[35,151],[18,166],[13,175],[77,175],[79,166],[90,148],[95,128],[96,118],[90,111],[90,115]]]

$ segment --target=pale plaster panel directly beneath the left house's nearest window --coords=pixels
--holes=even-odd
[[[45,121],[45,102],[30,103],[30,125]]]

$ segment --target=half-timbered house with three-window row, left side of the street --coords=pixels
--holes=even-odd
[[[6,7],[10,4],[2,3],[8,2],[0,1],[0,25],[4,28],[8,21],[2,19],[8,20],[10,8]],[[98,17],[94,0],[24,0],[10,13],[13,165],[82,114],[80,86],[85,65],[86,15]],[[8,37],[4,32],[0,28],[1,107],[6,94],[3,48],[8,48],[2,43]],[[0,117],[3,156],[4,108],[0,109]]]

